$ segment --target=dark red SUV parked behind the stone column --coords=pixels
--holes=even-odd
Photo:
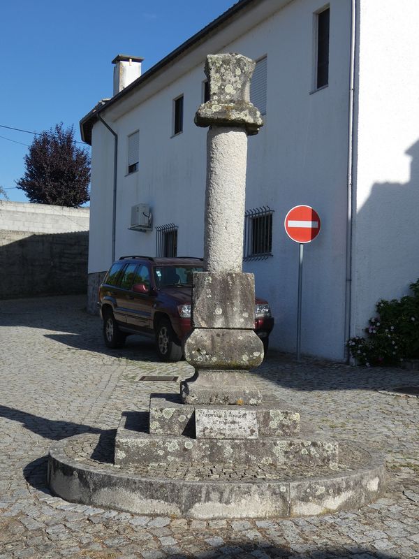
[[[191,331],[192,274],[202,271],[198,258],[122,256],[98,292],[105,344],[121,347],[130,334],[152,335],[162,361],[179,361]],[[265,353],[273,327],[267,301],[256,298],[255,332]]]

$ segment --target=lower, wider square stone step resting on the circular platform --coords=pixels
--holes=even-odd
[[[185,435],[155,435],[127,428],[127,419],[132,425],[132,415],[122,416],[115,438],[117,465],[170,462],[333,465],[338,459],[338,444],[332,441],[279,437],[193,439]]]

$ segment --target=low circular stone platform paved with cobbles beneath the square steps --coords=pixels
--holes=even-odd
[[[339,442],[339,464],[113,464],[114,433],[76,435],[52,445],[48,482],[61,498],[184,518],[270,518],[359,509],[385,487],[379,456]]]

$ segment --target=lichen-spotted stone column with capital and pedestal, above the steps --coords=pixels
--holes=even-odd
[[[209,55],[210,101],[198,108],[207,135],[205,272],[193,275],[193,331],[184,344],[196,373],[182,383],[193,404],[258,405],[260,391],[245,373],[260,365],[263,344],[253,332],[253,274],[242,273],[247,136],[263,121],[250,103],[255,63],[242,55]]]

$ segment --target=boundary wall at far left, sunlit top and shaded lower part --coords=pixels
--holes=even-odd
[[[87,291],[89,208],[0,202],[0,299]]]

